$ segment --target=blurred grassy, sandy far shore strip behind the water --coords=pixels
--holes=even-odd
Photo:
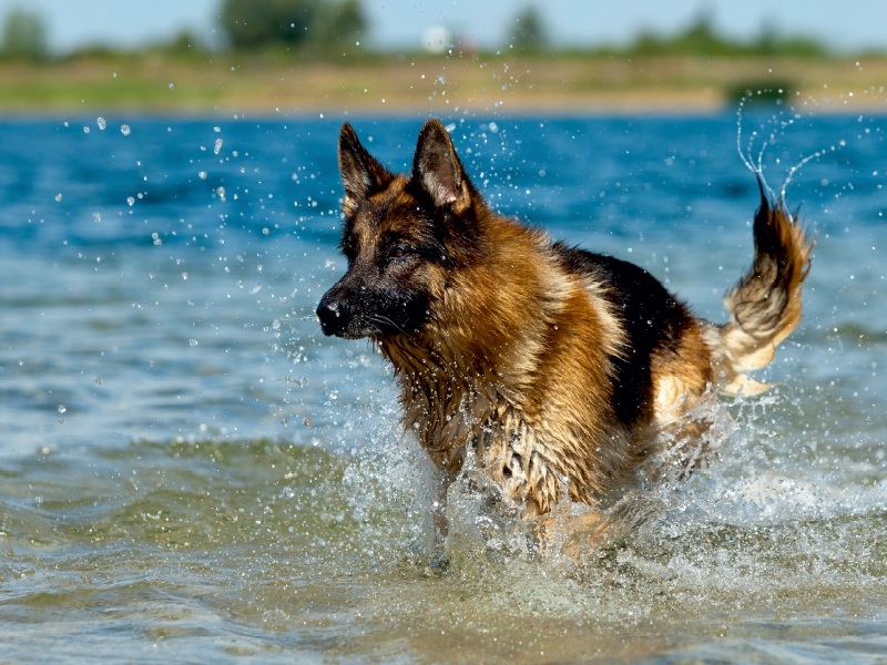
[[[0,116],[713,115],[735,110],[741,91],[779,96],[797,113],[887,114],[886,57],[216,60],[0,63]]]

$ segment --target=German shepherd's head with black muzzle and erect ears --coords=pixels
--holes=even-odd
[[[415,332],[432,316],[453,270],[482,250],[483,203],[437,120],[419,133],[409,177],[386,170],[348,123],[338,157],[348,272],[317,306],[320,327],[347,338]]]

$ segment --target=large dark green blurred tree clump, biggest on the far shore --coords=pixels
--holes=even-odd
[[[358,0],[222,0],[220,19],[241,49],[285,43],[323,51],[357,41],[367,29]]]

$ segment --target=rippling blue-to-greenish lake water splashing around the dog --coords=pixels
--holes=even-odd
[[[435,542],[389,369],[319,332],[343,120],[0,122],[0,659],[884,662],[887,117],[745,119],[774,186],[825,151],[788,190],[818,235],[777,387],[547,557],[466,483]],[[422,119],[350,120],[407,167]],[[724,320],[757,204],[733,114],[443,121],[503,214]]]

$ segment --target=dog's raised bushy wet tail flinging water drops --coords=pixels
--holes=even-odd
[[[761,207],[755,214],[755,260],[724,297],[730,320],[711,329],[713,370],[726,393],[755,395],[768,386],[745,372],[767,366],[776,347],[801,320],[801,287],[810,269],[813,241],[758,176]]]

